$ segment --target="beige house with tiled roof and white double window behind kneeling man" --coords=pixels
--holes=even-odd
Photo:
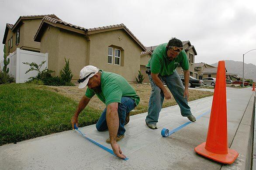
[[[135,81],[140,69],[140,53],[146,48],[123,23],[84,28],[52,17],[44,17],[34,40],[41,43],[41,53],[48,53],[48,69],[55,76],[69,60],[73,79],[80,70],[94,65]]]

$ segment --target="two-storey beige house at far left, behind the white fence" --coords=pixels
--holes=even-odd
[[[6,45],[7,56],[13,53],[16,48],[40,52],[40,43],[34,41],[34,36],[42,22],[42,18],[45,16],[59,19],[59,17],[54,14],[31,15],[19,17],[14,25],[10,23],[6,24],[3,44]]]

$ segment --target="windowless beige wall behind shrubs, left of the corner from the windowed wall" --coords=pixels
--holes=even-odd
[[[60,29],[59,32],[59,57],[58,75],[65,66],[65,59],[69,59],[69,67],[73,73],[73,79],[79,79],[80,70],[87,65],[88,42],[84,35]]]

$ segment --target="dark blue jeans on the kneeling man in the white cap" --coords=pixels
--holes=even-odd
[[[118,103],[118,117],[119,117],[119,128],[118,136],[125,134],[125,117],[136,107],[135,100],[131,97],[122,97],[121,103]],[[96,128],[98,131],[107,130],[107,120],[106,120],[107,108],[101,113],[100,119],[96,123]]]

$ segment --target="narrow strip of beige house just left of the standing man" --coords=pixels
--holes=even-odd
[[[140,71],[144,76],[143,83],[150,83],[149,76],[145,71],[147,70],[146,65],[149,63],[149,59],[152,56],[152,52],[150,50],[143,51],[140,53]]]

